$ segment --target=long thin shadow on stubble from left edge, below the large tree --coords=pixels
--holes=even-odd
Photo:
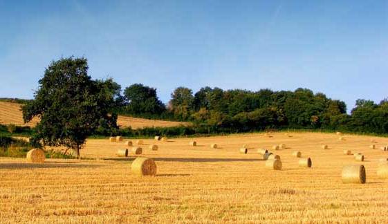
[[[80,164],[77,162],[44,162],[44,163],[27,163],[27,162],[7,162],[0,163],[0,169],[35,169],[35,168],[85,168],[101,167],[101,165]]]

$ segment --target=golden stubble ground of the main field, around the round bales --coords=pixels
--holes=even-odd
[[[388,180],[378,179],[379,158],[370,137],[327,133],[274,133],[196,138],[143,146],[155,158],[158,175],[137,177],[131,158],[117,158],[123,143],[88,140],[82,156],[98,160],[0,158],[1,223],[387,223]],[[374,138],[378,147],[387,138]],[[216,142],[220,149],[210,149]],[[268,170],[256,149],[285,143],[283,170]],[[239,153],[248,144],[248,154]],[[329,149],[321,149],[329,144]],[[361,152],[364,162],[343,154]],[[313,167],[300,168],[291,153],[302,152]],[[272,150],[270,150],[272,151]],[[273,151],[272,151],[273,152]],[[367,184],[342,184],[343,165],[363,164]]]

